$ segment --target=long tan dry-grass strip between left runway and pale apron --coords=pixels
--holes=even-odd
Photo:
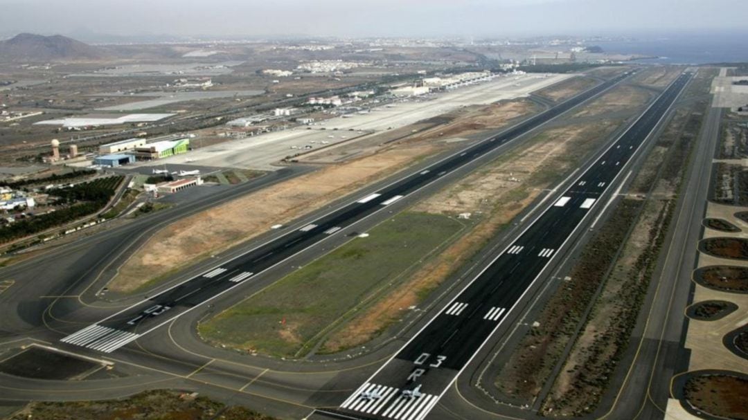
[[[149,280],[266,232],[275,223],[287,223],[308,209],[325,206],[437,150],[429,144],[390,148],[186,217],[153,235],[120,267],[109,287],[133,291]],[[184,256],[192,258],[185,261]]]

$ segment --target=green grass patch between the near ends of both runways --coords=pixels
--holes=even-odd
[[[438,214],[398,214],[368,238],[355,238],[200,324],[200,335],[232,348],[301,356],[346,312],[462,228]]]

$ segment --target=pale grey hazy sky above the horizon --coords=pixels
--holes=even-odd
[[[742,30],[744,0],[0,0],[4,33],[504,36]]]

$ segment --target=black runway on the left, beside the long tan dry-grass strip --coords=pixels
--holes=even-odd
[[[90,348],[104,353],[117,350],[138,337],[174,320],[202,303],[227,293],[242,283],[289,259],[297,253],[334,235],[341,229],[386,208],[407,194],[414,193],[442,179],[447,173],[475,161],[503,144],[553,120],[565,111],[623,81],[631,72],[598,84],[548,111],[537,114],[512,126],[499,135],[482,140],[460,152],[431,164],[425,169],[411,173],[396,182],[386,185],[376,193],[359,197],[339,209],[313,220],[306,226],[289,231],[285,235],[260,245],[229,262],[224,262],[186,282],[174,285],[153,297],[135,303],[101,321],[78,330],[61,341],[67,345]],[[610,163],[614,165],[613,162]],[[588,185],[587,188],[594,188]],[[595,193],[596,194],[596,193]]]

